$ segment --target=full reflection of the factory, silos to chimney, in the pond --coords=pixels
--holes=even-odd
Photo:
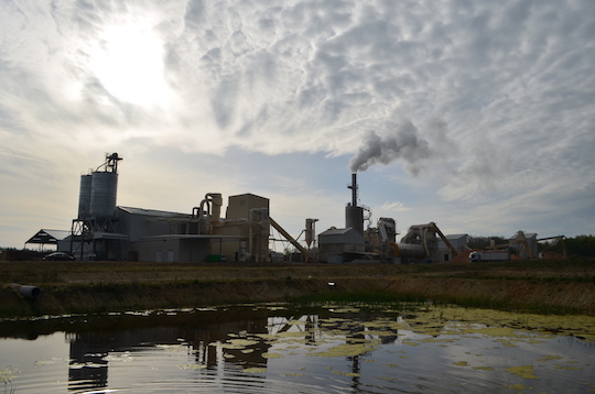
[[[292,341],[303,343],[306,348],[320,347],[334,338],[344,336],[346,344],[360,343],[364,339],[377,338],[382,343],[397,340],[397,331],[382,337],[368,335],[357,324],[363,315],[359,313],[342,314],[342,321],[321,325],[318,315],[300,315],[296,317],[270,316],[266,310],[256,313],[244,310],[239,314],[221,315],[217,311],[177,313],[153,316],[110,316],[100,324],[109,326],[101,331],[82,331],[68,333],[69,341],[69,391],[99,390],[113,386],[117,379],[115,372],[109,373],[110,366],[117,364],[140,362],[147,368],[159,369],[151,364],[153,352],[172,352],[180,357],[181,364],[196,368],[201,374],[228,376],[237,379],[239,371],[247,369],[269,368],[274,360],[267,358],[275,349],[275,340],[285,343]],[[227,321],[221,316],[227,317]],[[353,325],[345,321],[353,319]],[[143,320],[147,320],[143,322]],[[89,321],[93,325],[93,321]],[[127,330],[118,327],[133,325]],[[342,332],[340,335],[338,332]],[[371,332],[370,332],[371,333]],[[337,337],[338,336],[338,337]],[[275,338],[275,340],[273,340]],[[158,354],[154,353],[154,354]],[[346,355],[357,372],[360,365],[359,355]]]

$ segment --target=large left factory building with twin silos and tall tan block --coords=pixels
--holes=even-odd
[[[147,262],[256,261],[269,259],[269,199],[208,193],[188,212],[117,206],[117,153],[80,177],[78,216],[58,250],[77,260]]]

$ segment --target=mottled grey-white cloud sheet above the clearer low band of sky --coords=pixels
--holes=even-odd
[[[351,171],[403,165],[446,201],[594,211],[592,0],[0,7],[15,155],[89,141],[318,152]]]

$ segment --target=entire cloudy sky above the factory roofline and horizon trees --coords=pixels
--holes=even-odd
[[[118,205],[252,193],[298,236],[595,233],[595,1],[0,0],[0,247]]]

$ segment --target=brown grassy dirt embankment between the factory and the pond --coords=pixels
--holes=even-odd
[[[19,285],[42,289],[28,298]],[[0,263],[0,316],[292,299],[436,300],[595,315],[595,262],[387,264]]]

